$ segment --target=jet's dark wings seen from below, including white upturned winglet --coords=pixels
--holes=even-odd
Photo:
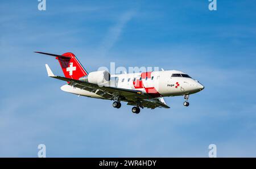
[[[142,107],[147,108],[170,108],[163,101],[163,98],[152,98],[147,93],[140,90],[130,90],[126,88],[118,88],[111,86],[99,86],[98,84],[82,82],[76,79],[70,79],[65,77],[56,76],[52,73],[49,66],[46,64],[46,69],[48,77],[60,79],[61,81],[68,82],[68,85],[80,88],[82,90],[94,92],[97,95],[104,97],[105,99],[114,99],[115,97],[120,97],[122,101],[128,102],[128,105],[136,105],[138,100]]]

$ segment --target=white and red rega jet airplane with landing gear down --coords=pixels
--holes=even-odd
[[[170,108],[163,97],[184,96],[183,105],[188,107],[189,95],[204,89],[203,84],[178,70],[148,71],[143,73],[112,74],[106,70],[88,73],[75,54],[61,55],[35,52],[53,56],[59,61],[64,76],[56,76],[46,64],[48,77],[66,81],[61,90],[90,98],[113,100],[113,107],[120,108],[121,102],[133,105],[133,113],[140,108]]]

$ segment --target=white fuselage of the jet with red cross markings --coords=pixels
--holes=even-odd
[[[130,73],[111,75],[109,86],[140,90],[153,98],[162,96],[189,95],[204,89],[204,86],[187,74],[177,70],[152,71],[148,73]],[[72,94],[105,99],[94,92],[65,84],[61,90]]]

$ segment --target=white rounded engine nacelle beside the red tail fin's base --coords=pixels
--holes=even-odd
[[[92,71],[88,75],[79,78],[79,81],[94,83],[94,84],[105,84],[110,81],[110,74],[106,70]]]

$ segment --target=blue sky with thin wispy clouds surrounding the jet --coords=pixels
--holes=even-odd
[[[256,5],[254,1],[1,1],[0,157],[256,157]],[[204,84],[170,109],[114,109],[78,98],[47,77],[54,58],[75,53],[101,66],[182,70]]]

